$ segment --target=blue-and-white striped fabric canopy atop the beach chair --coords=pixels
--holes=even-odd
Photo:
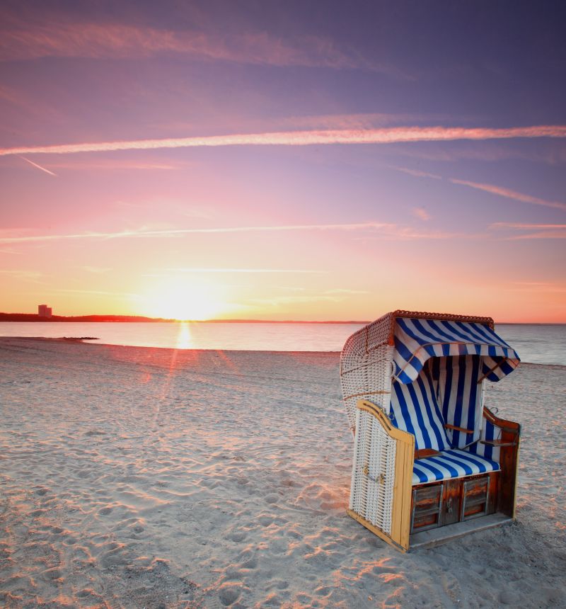
[[[481,372],[492,381],[508,375],[519,363],[516,351],[484,324],[405,317],[395,320],[396,380],[413,382],[429,358],[446,355],[481,355]]]

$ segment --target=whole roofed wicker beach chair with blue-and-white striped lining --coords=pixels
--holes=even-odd
[[[520,426],[484,386],[518,364],[490,317],[395,311],[352,334],[350,516],[403,551],[514,519]]]

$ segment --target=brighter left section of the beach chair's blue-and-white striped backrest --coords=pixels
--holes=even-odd
[[[424,365],[416,380],[406,384],[395,380],[391,387],[391,422],[415,436],[416,450],[450,448],[431,368]]]

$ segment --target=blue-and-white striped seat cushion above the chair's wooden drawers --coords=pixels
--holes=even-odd
[[[412,484],[437,482],[451,478],[462,478],[473,474],[485,474],[499,471],[499,463],[472,455],[464,450],[443,450],[434,457],[425,457],[415,461],[412,467]]]

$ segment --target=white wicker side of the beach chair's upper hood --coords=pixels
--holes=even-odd
[[[372,351],[342,352],[340,383],[350,428],[356,424],[356,404],[368,399],[388,414],[391,402],[393,347],[387,343]]]

